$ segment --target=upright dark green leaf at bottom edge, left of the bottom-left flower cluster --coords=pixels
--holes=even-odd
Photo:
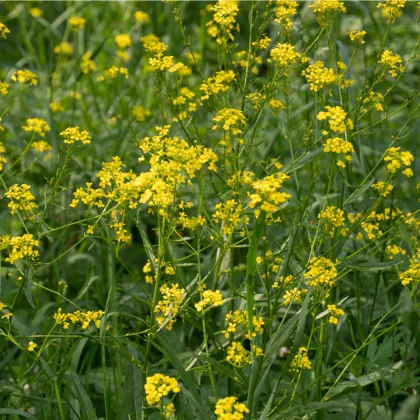
[[[141,420],[143,418],[142,372],[133,363],[127,366],[122,394],[121,419]]]

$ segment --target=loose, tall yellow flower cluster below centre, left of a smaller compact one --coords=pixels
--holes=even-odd
[[[166,326],[171,330],[184,299],[185,289],[180,289],[178,284],[165,284],[160,288],[160,293],[163,298],[155,306],[156,321],[160,327]]]

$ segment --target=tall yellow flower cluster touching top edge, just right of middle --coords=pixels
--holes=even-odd
[[[236,16],[239,12],[238,0],[218,0],[210,9],[213,13],[213,20],[207,23],[207,32],[216,38],[218,44],[223,44],[228,39],[233,40],[232,31],[239,30],[236,24]]]

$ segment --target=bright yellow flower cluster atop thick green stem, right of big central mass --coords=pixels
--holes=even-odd
[[[272,216],[278,210],[280,204],[285,203],[292,196],[289,193],[280,192],[279,189],[283,183],[290,177],[283,172],[276,172],[263,179],[255,181],[252,188],[255,193],[248,193],[250,198],[249,207],[255,208],[260,205],[261,210]],[[258,211],[256,211],[258,215]]]

